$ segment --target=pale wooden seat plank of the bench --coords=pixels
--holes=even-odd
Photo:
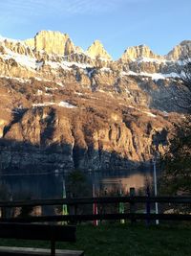
[[[0,246],[0,255],[2,256],[50,256],[50,249],[43,248],[26,248],[26,247],[8,247],[8,246]],[[83,256],[84,252],[81,250],[55,250],[56,256]]]

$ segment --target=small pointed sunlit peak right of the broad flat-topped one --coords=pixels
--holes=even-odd
[[[112,57],[107,53],[103,44],[99,40],[94,41],[94,43],[88,48],[87,54],[91,58],[105,58],[107,60],[112,60]]]

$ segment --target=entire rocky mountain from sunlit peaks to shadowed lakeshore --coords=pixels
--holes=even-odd
[[[187,48],[183,41],[159,56],[139,45],[113,60],[99,41],[85,51],[59,32],[0,37],[2,171],[148,164],[181,118],[172,90]]]

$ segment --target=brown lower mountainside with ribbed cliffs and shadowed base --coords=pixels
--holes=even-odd
[[[1,98],[9,100],[1,102],[0,158],[7,171],[138,167],[149,161],[156,140],[164,150],[176,119],[75,85],[9,79],[0,84]]]

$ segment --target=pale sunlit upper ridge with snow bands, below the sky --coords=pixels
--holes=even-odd
[[[2,73],[5,77],[52,81],[51,72],[53,81],[63,84],[60,74],[63,70],[64,74],[70,74],[68,77],[73,73],[76,80],[88,82],[89,87],[95,88],[97,74],[114,76],[115,81],[124,76],[150,77],[153,81],[178,78],[175,65],[182,64],[180,50],[191,49],[190,45],[190,41],[183,41],[167,56],[156,55],[148,46],[138,45],[127,48],[120,59],[112,60],[98,40],[83,52],[74,46],[69,35],[44,31],[25,41],[0,36],[0,58],[9,66]],[[25,74],[29,70],[29,76],[24,77],[24,72],[15,73],[12,65],[16,63],[12,59],[25,69]],[[107,83],[107,78],[102,82]]]

